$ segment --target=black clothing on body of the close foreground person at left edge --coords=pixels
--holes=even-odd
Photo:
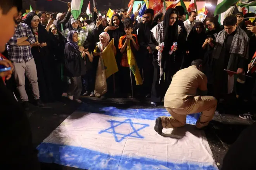
[[[28,118],[12,91],[0,78],[0,158],[4,169],[40,170],[37,151],[32,144]]]

